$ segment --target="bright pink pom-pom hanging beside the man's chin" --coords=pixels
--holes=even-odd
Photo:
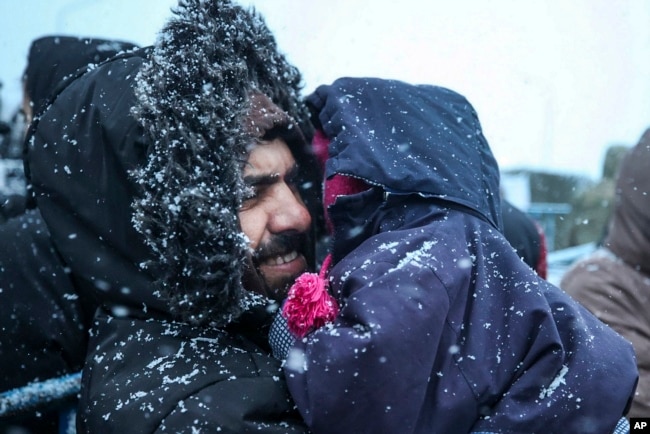
[[[334,321],[339,312],[338,304],[328,292],[327,279],[324,277],[330,262],[331,256],[328,255],[320,275],[303,273],[289,288],[282,315],[287,319],[289,331],[297,338]]]

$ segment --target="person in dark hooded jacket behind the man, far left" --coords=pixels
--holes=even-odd
[[[134,48],[127,42],[72,36],[34,40],[23,76],[25,114],[31,118],[32,108],[42,110],[67,77]],[[24,131],[18,135],[22,143]],[[77,292],[40,211],[26,208],[34,203],[28,204],[24,194],[0,195],[0,392],[79,371],[95,310],[92,299]],[[58,424],[56,412],[52,417],[46,411],[34,414],[38,416],[5,417],[0,426],[48,432]]]

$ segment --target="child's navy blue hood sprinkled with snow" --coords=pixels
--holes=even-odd
[[[396,80],[341,78],[309,96],[331,139],[325,176],[361,178],[393,194],[469,208],[501,227],[499,168],[462,95]]]

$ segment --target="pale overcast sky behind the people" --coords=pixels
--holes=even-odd
[[[650,126],[648,0],[241,0],[264,15],[305,93],[339,76],[450,87],[478,111],[502,168],[600,177],[612,144]],[[31,40],[153,43],[176,0],[0,0],[3,119]]]

